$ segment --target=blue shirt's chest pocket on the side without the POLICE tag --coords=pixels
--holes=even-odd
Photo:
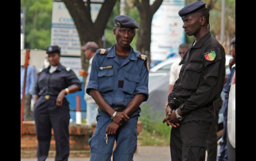
[[[134,90],[138,83],[140,83],[140,76],[131,74],[131,73],[125,73],[125,79],[124,79],[124,86],[123,91],[133,94]]]

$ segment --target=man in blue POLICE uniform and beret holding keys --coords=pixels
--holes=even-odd
[[[137,148],[139,105],[148,99],[147,56],[130,46],[138,24],[129,16],[115,17],[116,44],[98,49],[93,57],[86,93],[99,114],[89,139],[90,161],[132,161]]]

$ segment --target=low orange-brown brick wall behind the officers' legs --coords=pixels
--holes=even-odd
[[[35,121],[23,121],[21,136],[21,158],[36,158],[37,137]],[[89,138],[92,136],[96,124],[86,125],[84,123],[69,123],[69,157],[89,157],[90,146]],[[138,133],[142,130],[142,122],[138,121]],[[48,157],[55,157],[55,140],[52,129],[52,139]]]

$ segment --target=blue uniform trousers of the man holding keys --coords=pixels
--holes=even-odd
[[[99,111],[94,134],[88,141],[91,152],[90,161],[110,161],[115,140],[116,148],[113,152],[113,161],[132,161],[137,148],[138,116],[138,113],[132,114],[130,119],[118,128],[115,135],[108,135],[106,144],[105,131],[113,120],[108,114]]]

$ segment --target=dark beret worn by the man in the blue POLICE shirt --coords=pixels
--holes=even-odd
[[[133,18],[124,15],[115,17],[115,26],[121,28],[139,28],[137,22],[133,20]]]

